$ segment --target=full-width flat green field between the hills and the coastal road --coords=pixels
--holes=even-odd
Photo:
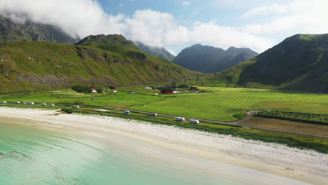
[[[120,90],[118,88],[118,90]],[[313,114],[328,114],[328,95],[293,93],[282,90],[213,88],[201,87],[209,93],[189,93],[179,95],[158,95],[158,90],[144,88],[122,88],[135,90],[137,94],[105,92],[104,94],[83,94],[73,90],[33,93],[31,95],[11,95],[0,97],[1,101],[29,101],[51,103],[75,103],[120,107],[139,111],[204,118],[216,121],[235,121],[233,114],[250,110],[279,110]],[[148,94],[148,95],[147,95]],[[57,98],[62,96],[62,99]],[[95,100],[91,100],[95,98]]]

